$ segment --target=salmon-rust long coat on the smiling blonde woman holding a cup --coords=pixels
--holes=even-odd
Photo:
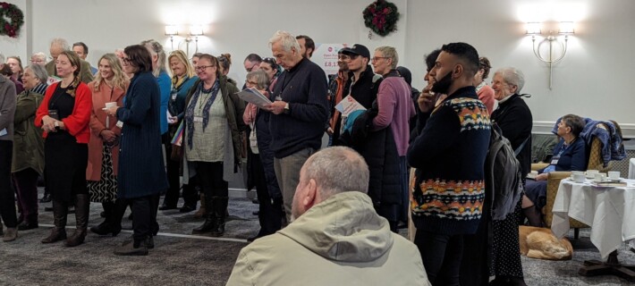
[[[123,106],[123,96],[128,88],[128,82],[125,84],[126,89],[114,88],[114,90],[106,85],[105,81],[102,81],[99,85],[99,90],[95,90],[95,82],[89,83],[89,88],[92,91],[92,108],[90,113],[90,141],[89,141],[89,164],[86,168],[86,180],[99,181],[101,176],[101,160],[102,160],[102,148],[104,147],[104,140],[99,136],[102,130],[106,129],[106,112],[104,107],[106,102],[116,102],[117,106]],[[112,96],[111,96],[112,91]],[[108,130],[114,132],[117,137],[121,136],[122,130],[116,127],[116,116],[109,116]],[[113,172],[117,175],[118,162],[119,162],[119,147],[115,146],[111,149],[113,155]]]

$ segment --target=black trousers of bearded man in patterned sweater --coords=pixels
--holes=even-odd
[[[419,248],[428,280],[436,285],[460,285],[463,236],[417,229],[414,243]]]

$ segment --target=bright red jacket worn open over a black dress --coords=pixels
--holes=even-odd
[[[53,92],[60,82],[55,82],[47,88],[47,92],[44,95],[44,101],[39,105],[38,111],[35,117],[35,126],[42,127],[42,117],[48,115],[48,101],[53,97]],[[90,130],[90,107],[92,105],[92,95],[89,87],[80,82],[75,90],[75,106],[72,108],[72,114],[62,119],[66,131],[77,139],[77,143],[89,143]],[[47,138],[47,131],[44,131],[42,136]]]

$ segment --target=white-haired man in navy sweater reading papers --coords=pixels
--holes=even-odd
[[[326,74],[316,63],[302,57],[292,34],[277,31],[269,39],[275,62],[284,68],[272,94],[269,111],[271,150],[274,151],[275,177],[283,193],[287,222],[300,169],[311,154],[322,146],[328,118]]]

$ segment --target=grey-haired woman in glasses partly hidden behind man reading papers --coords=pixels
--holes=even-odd
[[[267,87],[269,77],[263,70],[250,71],[245,80],[247,88],[256,88],[265,97],[269,97]],[[258,196],[258,221],[260,231],[254,237],[247,240],[253,241],[263,236],[275,233],[282,227],[284,216],[282,208],[282,193],[275,180],[274,155],[269,148],[271,135],[269,135],[268,120],[264,118],[269,113],[260,113],[258,106],[249,104],[245,107],[242,120],[250,125],[250,148],[248,149],[248,168],[251,181],[256,185]],[[272,204],[272,198],[274,203]]]

